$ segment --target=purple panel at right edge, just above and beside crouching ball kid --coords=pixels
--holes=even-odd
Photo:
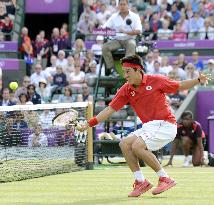
[[[207,118],[214,114],[214,90],[201,90],[196,98],[196,119],[201,123],[205,134],[208,134]]]

